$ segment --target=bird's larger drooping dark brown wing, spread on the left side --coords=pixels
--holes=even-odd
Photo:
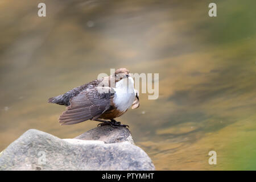
[[[61,125],[72,125],[88,119],[97,118],[112,108],[111,99],[114,90],[110,87],[95,87],[86,89],[72,97],[67,110],[60,115]]]

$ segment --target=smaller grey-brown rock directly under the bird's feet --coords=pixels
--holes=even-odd
[[[75,139],[100,140],[104,143],[130,142],[134,144],[130,131],[122,126],[117,127],[117,129],[111,126],[96,127],[75,137]]]

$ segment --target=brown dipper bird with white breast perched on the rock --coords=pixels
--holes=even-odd
[[[139,107],[139,93],[134,89],[129,70],[120,68],[114,75],[98,78],[60,96],[51,97],[48,102],[67,106],[59,118],[61,125],[72,125],[90,119],[103,122],[99,125],[126,127],[128,125],[122,125],[114,118],[124,114],[129,107]]]

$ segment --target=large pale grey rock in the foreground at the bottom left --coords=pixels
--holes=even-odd
[[[147,154],[125,137],[123,142],[112,143],[114,138],[98,136],[102,140],[60,139],[43,131],[28,130],[0,153],[0,170],[155,169]]]

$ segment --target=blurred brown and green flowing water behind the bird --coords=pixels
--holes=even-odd
[[[0,150],[28,129],[72,138],[47,99],[110,68],[159,73],[159,98],[118,118],[158,170],[256,169],[255,1],[0,2]],[[209,165],[209,151],[217,164]]]

